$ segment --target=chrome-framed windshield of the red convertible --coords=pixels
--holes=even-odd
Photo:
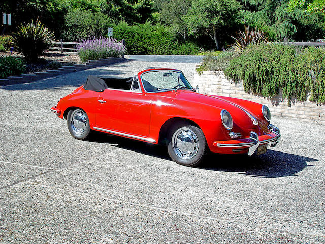
[[[143,73],[141,78],[147,92],[171,89],[192,89],[192,86],[180,71],[150,71]]]

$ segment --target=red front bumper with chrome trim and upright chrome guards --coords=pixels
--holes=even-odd
[[[253,155],[260,145],[271,143],[271,147],[275,147],[276,144],[278,144],[281,138],[279,128],[272,124],[270,124],[268,128],[270,133],[266,135],[258,136],[256,132],[251,131],[249,138],[229,141],[215,141],[213,142],[213,145],[230,149],[249,148],[248,155]]]

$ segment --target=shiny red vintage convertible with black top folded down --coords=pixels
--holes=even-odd
[[[200,94],[175,69],[147,68],[124,79],[89,76],[51,111],[67,120],[76,139],[95,130],[166,143],[170,157],[186,166],[199,164],[207,150],[261,154],[281,137],[267,106]]]

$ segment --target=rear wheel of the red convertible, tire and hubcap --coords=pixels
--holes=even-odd
[[[90,134],[88,115],[81,109],[70,110],[68,112],[67,125],[70,134],[78,140],[84,140]]]

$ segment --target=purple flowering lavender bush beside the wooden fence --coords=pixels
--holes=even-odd
[[[77,45],[77,49],[82,62],[99,58],[120,57],[126,52],[126,47],[116,39],[105,37],[82,40],[81,44]]]

